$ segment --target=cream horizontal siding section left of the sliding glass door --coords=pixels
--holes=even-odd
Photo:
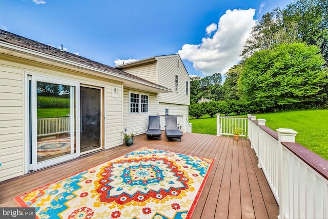
[[[22,70],[0,64],[0,182],[23,174]]]

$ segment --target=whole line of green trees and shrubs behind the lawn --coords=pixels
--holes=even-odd
[[[189,114],[328,108],[327,11],[326,0],[296,0],[264,14],[223,83],[220,73],[191,78]]]

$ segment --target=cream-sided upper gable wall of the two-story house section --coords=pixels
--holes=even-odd
[[[179,66],[177,62],[179,60]],[[158,94],[161,103],[190,105],[190,77],[179,56],[159,58],[157,61],[158,84],[173,90],[171,93]],[[175,75],[178,75],[178,91],[175,91]],[[186,81],[188,82],[188,95],[186,95]],[[187,113],[188,114],[188,113]]]

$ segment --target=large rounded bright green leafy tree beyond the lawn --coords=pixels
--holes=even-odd
[[[263,111],[309,108],[326,101],[327,71],[318,46],[281,44],[246,59],[239,78],[242,97]]]

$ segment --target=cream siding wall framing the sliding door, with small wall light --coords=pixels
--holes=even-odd
[[[122,144],[122,84],[79,72],[0,55],[0,182],[25,173],[26,72],[81,84],[104,87],[105,148]],[[118,87],[117,97],[112,88]]]

